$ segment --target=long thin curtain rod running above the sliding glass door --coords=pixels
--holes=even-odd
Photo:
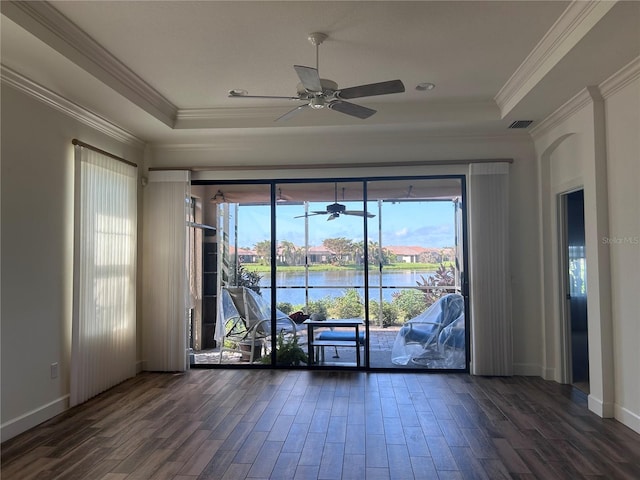
[[[513,163],[512,158],[485,158],[476,160],[424,160],[416,162],[366,162],[366,163],[324,163],[313,165],[219,165],[217,167],[150,167],[149,171],[166,171],[166,170],[188,170],[190,172],[208,172],[208,171],[224,171],[224,170],[309,170],[324,168],[375,168],[375,167],[427,167],[427,166],[446,166],[446,165],[470,165],[472,163]]]

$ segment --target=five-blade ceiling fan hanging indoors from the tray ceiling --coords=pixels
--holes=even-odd
[[[333,80],[320,78],[318,71],[319,46],[327,39],[327,35],[320,32],[309,34],[309,42],[316,47],[316,67],[305,67],[294,65],[300,83],[295,97],[279,97],[270,95],[248,95],[245,90],[229,90],[229,97],[232,98],[274,98],[285,100],[298,100],[306,102],[278,117],[276,121],[289,120],[300,111],[307,108],[321,109],[327,107],[336,112],[351,115],[360,119],[369,118],[376,113],[376,110],[363,107],[355,103],[346,102],[352,98],[372,97],[374,95],[388,95],[390,93],[404,92],[404,84],[401,80],[389,80],[387,82],[370,83],[349,88],[338,88],[338,84]]]

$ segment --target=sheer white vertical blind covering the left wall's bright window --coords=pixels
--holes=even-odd
[[[75,146],[71,405],[136,373],[137,168]]]

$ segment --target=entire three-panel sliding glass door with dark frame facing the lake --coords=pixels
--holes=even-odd
[[[467,367],[462,178],[200,188],[219,272],[216,348],[203,361]]]

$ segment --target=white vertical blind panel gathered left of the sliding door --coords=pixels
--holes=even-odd
[[[188,172],[151,172],[144,214],[144,369],[185,371],[189,271]]]

